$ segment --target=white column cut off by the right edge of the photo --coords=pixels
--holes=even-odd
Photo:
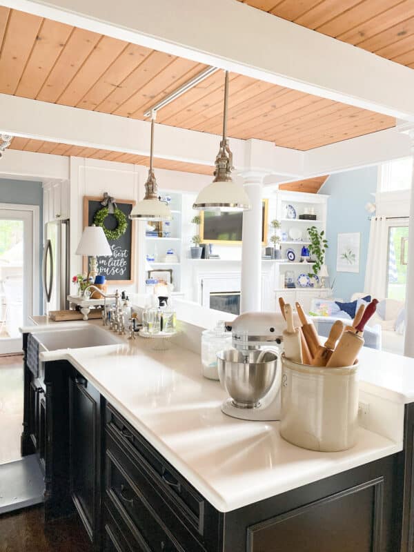
[[[406,357],[414,358],[414,130],[410,130],[408,135],[411,138],[413,175],[411,177],[410,218],[408,219],[408,266],[406,281],[404,355]]]

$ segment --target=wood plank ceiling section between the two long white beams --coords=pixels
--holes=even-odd
[[[278,6],[311,3],[251,1],[268,9],[272,1]],[[339,0],[325,3],[336,5]],[[0,7],[0,45],[0,92],[134,119],[143,119],[146,108],[205,67],[4,7]],[[220,134],[223,83],[222,72],[215,72],[160,110],[157,121]],[[230,137],[309,150],[392,126],[393,117],[230,75]]]

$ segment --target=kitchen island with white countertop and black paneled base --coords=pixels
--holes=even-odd
[[[101,323],[58,328],[81,324]],[[24,328],[26,346],[50,327]],[[47,414],[37,443],[26,402],[22,449],[39,445],[47,519],[75,504],[97,550],[410,550],[414,361],[364,350],[359,441],[318,453],[285,442],[278,422],[221,413],[226,394],[178,343],[41,353],[36,378],[26,354]]]

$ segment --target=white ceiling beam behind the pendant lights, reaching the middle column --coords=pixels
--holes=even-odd
[[[150,154],[150,123],[127,117],[117,117],[96,111],[60,106],[34,99],[0,94],[0,132],[12,136],[61,142],[73,146],[99,148],[137,155]],[[155,157],[188,163],[213,165],[219,148],[220,137],[156,124]],[[246,158],[245,140],[230,139],[233,159],[237,170],[249,168],[246,159],[253,164],[266,161],[266,172],[286,176],[297,174],[302,166],[302,152],[275,148],[271,142],[258,141],[267,151],[267,159],[259,155]]]

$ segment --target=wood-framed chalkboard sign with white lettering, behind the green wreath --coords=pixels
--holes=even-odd
[[[102,208],[102,197],[83,197],[83,227],[92,226],[95,214]],[[135,268],[135,221],[128,217],[135,201],[115,199],[117,207],[124,213],[127,220],[126,233],[118,239],[108,239],[112,249],[112,257],[97,257],[98,273],[103,274],[111,284],[132,284]],[[105,226],[109,230],[117,227],[117,220],[113,215],[105,219]],[[89,259],[83,257],[83,271],[88,271]]]

